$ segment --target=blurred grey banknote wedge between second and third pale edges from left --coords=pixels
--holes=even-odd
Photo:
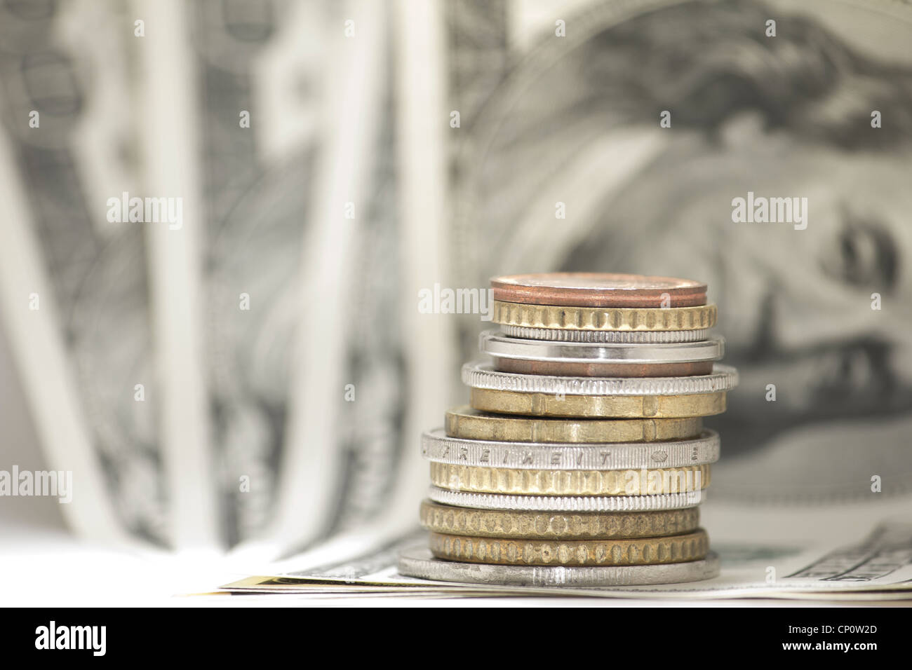
[[[196,100],[207,240],[202,338],[211,474],[228,546],[261,527],[272,510],[284,436],[286,353],[294,325],[288,284],[301,243],[299,216],[315,138],[289,137],[286,156],[264,144],[272,146],[270,129],[281,119],[308,116],[313,96],[307,94],[307,70],[295,72],[304,91],[292,98],[295,108],[273,109],[254,98],[257,61],[275,49],[287,11],[269,2],[200,2],[187,12],[200,72]]]

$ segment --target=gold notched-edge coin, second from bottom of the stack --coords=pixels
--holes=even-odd
[[[710,551],[703,529],[638,540],[535,541],[430,533],[430,552],[448,561],[497,565],[658,565],[699,561]]]

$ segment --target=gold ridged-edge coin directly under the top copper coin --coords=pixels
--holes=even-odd
[[[495,324],[561,330],[700,330],[716,325],[716,305],[697,307],[568,307],[493,301]]]

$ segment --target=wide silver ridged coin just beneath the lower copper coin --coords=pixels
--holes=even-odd
[[[476,361],[462,366],[462,383],[472,388],[567,396],[689,396],[731,391],[738,386],[738,371],[716,363],[711,375],[694,376],[555,376],[499,372],[490,363]]]

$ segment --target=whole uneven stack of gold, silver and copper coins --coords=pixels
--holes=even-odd
[[[725,410],[706,284],[546,273],[492,280],[493,322],[462,368],[471,407],[425,433],[430,551],[399,570],[532,585],[692,582],[719,572],[700,500]]]

